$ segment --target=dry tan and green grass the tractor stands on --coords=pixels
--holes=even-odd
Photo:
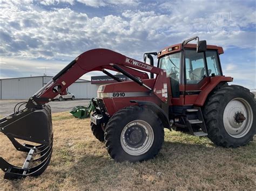
[[[0,189],[256,189],[256,142],[236,149],[215,147],[207,138],[165,131],[153,160],[114,162],[90,130],[89,119],[53,114],[51,163],[39,178],[4,180]],[[2,157],[17,165],[24,155],[0,135]],[[7,146],[5,146],[7,145]]]

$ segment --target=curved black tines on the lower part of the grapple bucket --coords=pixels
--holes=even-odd
[[[14,139],[12,140],[12,143],[18,142]],[[29,149],[29,151],[24,151],[28,152],[28,155],[22,167],[11,165],[9,164],[9,162],[5,161],[2,157],[0,157],[0,168],[5,172],[4,179],[19,179],[25,178],[26,176],[41,175],[50,163],[52,155],[52,145],[53,137],[51,139],[50,145],[21,145],[21,150],[24,151],[26,149]],[[30,167],[31,163],[33,162],[37,162],[36,166]]]

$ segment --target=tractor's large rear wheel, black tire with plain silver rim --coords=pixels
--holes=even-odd
[[[238,147],[256,133],[256,102],[250,90],[224,86],[207,98],[203,115],[208,138],[218,146]]]

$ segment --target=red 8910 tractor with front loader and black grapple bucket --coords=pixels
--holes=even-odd
[[[191,40],[197,44],[188,44]],[[107,152],[116,161],[153,158],[163,145],[164,128],[207,136],[223,147],[247,144],[256,132],[254,95],[244,87],[228,86],[233,79],[221,70],[219,54],[223,53],[223,48],[206,45],[198,37],[158,53],[145,53],[144,62],[109,49],[84,52],[30,97],[24,109],[0,119],[0,131],[18,151],[28,152],[22,167],[0,158],[4,178],[38,176],[45,171],[53,143],[51,108],[46,103],[94,70],[117,81],[99,87],[91,116],[93,135],[105,141]],[[157,67],[152,55],[157,55]],[[151,65],[145,63],[146,58]],[[131,81],[123,82],[106,69]]]

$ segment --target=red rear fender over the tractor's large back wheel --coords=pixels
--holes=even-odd
[[[226,76],[211,77],[211,82],[207,84],[206,88],[204,88],[203,91],[201,91],[194,105],[199,107],[203,106],[205,104],[205,100],[208,97],[208,95],[220,82],[232,82],[232,81],[233,81],[233,77],[226,77]]]

